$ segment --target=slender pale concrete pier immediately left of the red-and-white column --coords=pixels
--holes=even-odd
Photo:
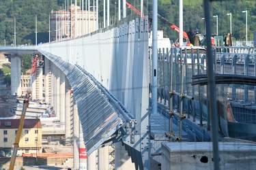
[[[79,114],[77,112],[76,102],[73,101],[73,154],[74,169],[79,169]]]

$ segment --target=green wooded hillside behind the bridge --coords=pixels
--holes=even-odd
[[[85,1],[84,1],[85,2]],[[91,0],[91,4],[94,1]],[[140,1],[128,1],[138,10]],[[35,44],[35,16],[37,16],[38,42],[48,42],[48,15],[53,10],[59,10],[67,3],[66,0],[1,0],[0,5],[0,44],[11,45],[14,41],[14,17],[16,18],[16,45]],[[70,1],[69,1],[70,3]],[[74,0],[72,1],[74,3]],[[99,21],[103,21],[103,1],[99,3]],[[111,18],[117,18],[118,1],[110,1]],[[77,0],[77,5],[81,1]],[[85,4],[85,3],[84,3]],[[184,0],[184,31],[190,27],[199,29],[204,33],[203,0]],[[84,5],[85,6],[85,5]],[[122,6],[122,5],[121,5]],[[152,16],[152,1],[144,1],[143,13]],[[230,16],[232,14],[232,33],[235,39],[246,39],[246,15],[242,11],[248,11],[248,40],[253,39],[256,28],[256,1],[226,0],[212,1],[211,16],[218,15],[218,35],[227,35],[230,32]],[[134,14],[129,8],[126,13]],[[179,26],[179,1],[158,0],[158,14],[167,18],[173,24]],[[154,19],[154,18],[153,18]],[[211,18],[212,33],[216,32],[216,18]],[[158,20],[158,30],[163,30],[165,37],[177,39],[178,33],[167,24]]]

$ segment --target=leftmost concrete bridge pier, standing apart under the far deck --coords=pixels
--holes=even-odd
[[[20,90],[20,56],[11,56],[11,94],[21,95]]]

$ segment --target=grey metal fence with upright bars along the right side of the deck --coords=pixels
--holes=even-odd
[[[194,97],[195,102],[184,100],[181,112],[195,114],[201,120],[209,120],[207,86],[192,86],[193,76],[206,75],[206,54],[201,48],[192,49],[158,49],[158,102],[169,106],[170,91],[184,93]],[[212,52],[216,74],[240,75],[241,79],[241,84],[217,84],[219,116],[227,121],[227,107],[230,103],[236,121],[255,124],[256,86],[243,83],[244,75],[256,76],[255,48],[214,47]],[[180,103],[179,96],[172,97],[173,109],[179,109]]]

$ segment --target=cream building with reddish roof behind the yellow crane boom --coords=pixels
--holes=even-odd
[[[0,120],[0,151],[11,156],[18,132],[19,119]],[[42,124],[40,119],[25,119],[17,155],[40,152],[42,148]]]

